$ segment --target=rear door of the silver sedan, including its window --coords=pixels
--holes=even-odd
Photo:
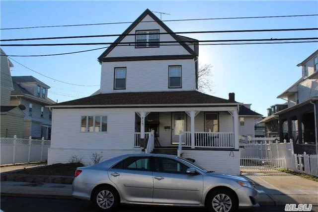
[[[152,203],[154,192],[150,157],[132,156],[108,169],[109,179],[125,201]]]

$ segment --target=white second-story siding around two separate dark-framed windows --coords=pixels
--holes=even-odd
[[[182,88],[168,88],[168,66],[182,66]],[[126,68],[126,89],[114,90],[114,68]],[[101,93],[194,91],[195,63],[193,60],[155,60],[102,63]]]

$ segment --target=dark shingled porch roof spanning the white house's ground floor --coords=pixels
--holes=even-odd
[[[125,92],[98,94],[68,102],[58,103],[49,107],[91,107],[91,106],[181,106],[181,105],[225,105],[237,106],[240,103],[226,100],[198,91],[170,91],[170,92]]]

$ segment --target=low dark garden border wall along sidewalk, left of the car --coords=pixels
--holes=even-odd
[[[73,184],[74,177],[71,176],[52,176],[52,175],[25,175],[1,173],[1,181],[15,181],[28,183],[59,183]]]

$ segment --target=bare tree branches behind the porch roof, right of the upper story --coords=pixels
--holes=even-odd
[[[204,64],[199,65],[198,71],[198,91],[202,93],[212,92],[213,81],[212,81],[212,65]]]

